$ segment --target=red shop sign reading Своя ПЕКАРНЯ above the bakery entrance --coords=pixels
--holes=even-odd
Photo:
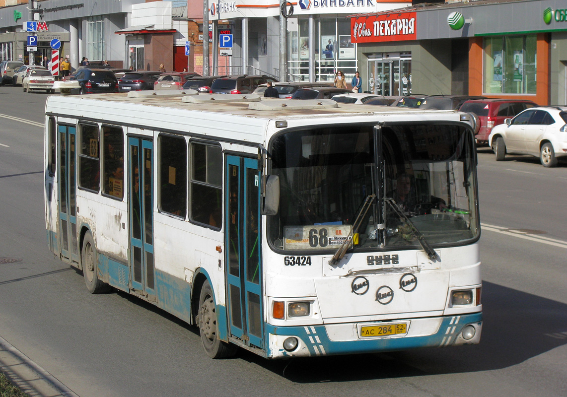
[[[392,12],[350,19],[352,42],[403,41],[416,38],[416,12]]]

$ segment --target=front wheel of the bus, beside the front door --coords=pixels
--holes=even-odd
[[[205,281],[201,288],[198,325],[201,333],[201,342],[207,356],[211,358],[227,358],[235,355],[235,345],[218,339],[217,310],[209,281]]]

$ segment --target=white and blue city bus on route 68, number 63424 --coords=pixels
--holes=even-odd
[[[50,249],[266,358],[479,343],[471,116],[249,95],[50,96]]]

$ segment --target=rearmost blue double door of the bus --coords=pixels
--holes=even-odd
[[[77,127],[60,125],[59,133],[59,236],[61,255],[79,263],[77,245],[77,177],[75,144]]]

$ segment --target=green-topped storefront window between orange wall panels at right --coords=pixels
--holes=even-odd
[[[484,39],[484,93],[536,93],[535,35]]]

